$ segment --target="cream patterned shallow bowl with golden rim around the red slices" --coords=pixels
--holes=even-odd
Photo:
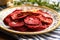
[[[21,32],[21,31],[15,31],[15,30],[9,29],[9,26],[6,26],[3,23],[3,19],[16,9],[22,9],[22,10],[39,9],[39,10],[43,10],[44,12],[47,12],[52,16],[53,23],[48,28],[46,28],[42,31],[36,31],[36,32]],[[14,33],[14,34],[23,34],[23,35],[43,34],[46,32],[53,31],[54,29],[56,29],[58,27],[58,25],[60,24],[59,17],[60,17],[59,14],[55,10],[52,10],[52,9],[45,7],[45,6],[21,5],[21,6],[16,6],[16,7],[10,7],[10,8],[6,8],[6,9],[0,11],[0,28],[9,32],[9,33]]]

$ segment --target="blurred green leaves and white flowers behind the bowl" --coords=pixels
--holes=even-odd
[[[35,6],[46,6],[56,11],[60,10],[60,0],[13,0],[13,5],[29,4]]]

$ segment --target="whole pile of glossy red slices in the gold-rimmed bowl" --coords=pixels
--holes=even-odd
[[[24,12],[16,9],[7,15],[3,22],[16,31],[34,32],[48,28],[52,24],[53,19],[50,14],[42,10]]]

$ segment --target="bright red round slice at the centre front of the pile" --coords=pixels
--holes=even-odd
[[[24,19],[24,22],[26,24],[40,24],[40,20],[35,17],[35,16],[27,16],[25,19]]]

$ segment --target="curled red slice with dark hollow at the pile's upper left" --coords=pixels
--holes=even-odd
[[[27,16],[27,13],[25,12],[22,12],[21,10],[15,10],[12,14],[11,14],[11,18],[13,20],[15,19],[20,19],[20,18],[23,18],[23,17],[26,17]]]

